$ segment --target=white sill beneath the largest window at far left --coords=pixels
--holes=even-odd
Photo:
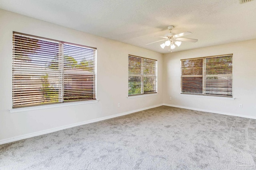
[[[90,100],[90,101],[70,102],[70,103],[52,104],[52,105],[44,105],[44,106],[22,107],[22,108],[16,108],[16,109],[9,109],[9,111],[10,111],[10,113],[16,113],[16,112],[22,112],[22,111],[50,109],[50,108],[54,108],[54,107],[65,107],[65,106],[75,106],[75,105],[80,105],[80,104],[98,103],[98,101],[99,100]]]

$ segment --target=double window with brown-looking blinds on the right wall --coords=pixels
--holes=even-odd
[[[232,97],[232,56],[181,60],[181,93]]]

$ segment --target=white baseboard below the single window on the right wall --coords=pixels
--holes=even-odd
[[[255,116],[238,115],[238,114],[234,114],[234,113],[226,113],[226,112],[221,112],[221,111],[198,109],[198,108],[194,108],[194,107],[177,106],[177,105],[172,105],[172,104],[163,104],[163,106],[171,106],[171,107],[178,107],[178,108],[182,108],[182,109],[190,109],[190,110],[204,111],[204,112],[210,112],[210,113],[217,113],[217,114],[221,114],[221,115],[230,115],[230,116],[244,117],[244,118],[249,118],[249,119],[256,119]]]

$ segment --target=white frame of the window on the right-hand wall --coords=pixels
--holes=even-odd
[[[211,59],[211,58],[221,58],[221,57],[230,57],[231,58],[231,73],[228,73],[229,71],[227,71],[226,73],[222,73],[221,76],[219,74],[206,74],[206,69],[207,69],[207,66],[209,66],[208,64],[206,64],[206,60],[207,59]],[[182,69],[184,68],[182,66],[182,61],[191,61],[191,60],[197,60],[197,59],[202,59],[202,92],[201,94],[199,93],[196,93],[196,92],[184,92],[184,89],[182,88],[182,84],[184,83],[182,78],[185,78],[186,75],[183,75],[182,74]],[[220,63],[214,63],[214,64],[220,64]],[[220,67],[218,67],[220,68]],[[225,67],[225,68],[228,68],[228,67]],[[231,88],[231,94],[228,94],[229,91],[224,91],[226,92],[227,94],[224,95],[224,94],[207,94],[207,86],[206,86],[206,80],[207,80],[207,77],[230,77],[231,78],[231,83],[232,85],[231,86],[228,86],[228,88]],[[187,76],[189,77],[189,75]],[[220,81],[222,82],[222,81]],[[230,84],[230,83],[229,83]],[[209,88],[209,87],[208,87]],[[215,88],[218,88],[218,84],[215,85]],[[228,89],[227,88],[227,89]],[[182,91],[183,90],[183,91]],[[185,89],[186,90],[186,89]],[[208,90],[209,91],[209,90]],[[190,58],[190,59],[181,59],[180,60],[180,94],[183,94],[183,95],[191,95],[191,96],[212,96],[212,97],[220,97],[220,98],[233,98],[233,54],[226,54],[226,55],[215,55],[215,56],[208,56],[208,57],[198,57],[198,58]]]

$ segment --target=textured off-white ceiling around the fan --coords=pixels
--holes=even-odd
[[[0,8],[160,53],[150,35],[190,31],[173,51],[256,39],[256,0],[1,0]]]

